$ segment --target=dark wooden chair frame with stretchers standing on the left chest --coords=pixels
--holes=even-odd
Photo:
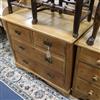
[[[16,0],[7,0],[7,1],[8,1],[9,13],[13,12],[12,5],[27,7],[24,5],[19,5],[18,3],[12,3],[12,1],[16,1]],[[33,16],[32,23],[36,24],[38,22],[37,12],[39,12],[41,10],[46,10],[46,9],[51,9],[52,12],[58,11],[60,14],[65,13],[65,14],[74,15],[73,37],[77,38],[80,23],[86,17],[88,17],[87,18],[88,21],[91,21],[94,0],[90,0],[89,5],[87,5],[88,2],[84,2],[84,0],[74,0],[74,2],[72,2],[72,0],[59,0],[59,5],[56,5],[54,2],[55,2],[55,0],[47,0],[46,2],[38,3],[36,0],[31,0],[31,8],[32,8],[32,16]],[[62,6],[63,2],[65,2],[66,4],[75,4],[75,10],[69,11],[68,9],[66,9],[66,7]],[[86,13],[82,17],[82,8],[84,6],[87,7],[89,10],[88,10],[88,13]],[[40,8],[40,7],[42,7],[42,8]],[[30,7],[28,7],[28,8],[30,8]],[[38,8],[40,8],[40,9],[38,10]]]

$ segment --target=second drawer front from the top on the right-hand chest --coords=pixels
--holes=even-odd
[[[100,69],[79,62],[78,76],[100,86]]]

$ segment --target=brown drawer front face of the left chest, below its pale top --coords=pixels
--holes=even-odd
[[[68,64],[70,68],[67,69],[66,55],[69,55],[70,52],[73,53],[72,45],[15,24],[7,23],[7,27],[16,65],[33,74],[35,73],[63,93],[68,94],[71,84],[72,63]],[[47,52],[51,55],[51,61],[46,59]],[[72,62],[72,56],[69,60]],[[68,78],[66,73],[69,74]],[[68,80],[69,77],[70,80]]]

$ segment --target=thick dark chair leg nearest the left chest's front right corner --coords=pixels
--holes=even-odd
[[[74,25],[73,25],[73,37],[78,37],[78,30],[80,26],[80,19],[82,14],[83,0],[76,0]]]

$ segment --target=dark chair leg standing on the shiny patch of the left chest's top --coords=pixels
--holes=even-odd
[[[31,7],[32,7],[32,16],[33,16],[32,23],[36,24],[38,22],[38,20],[37,20],[37,3],[36,3],[36,0],[31,0]]]

